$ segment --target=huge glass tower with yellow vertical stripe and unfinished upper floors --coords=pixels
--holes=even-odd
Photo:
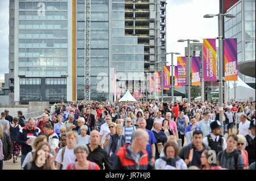
[[[165,61],[165,6],[10,0],[10,103],[113,99],[113,69],[119,86],[133,91]]]

